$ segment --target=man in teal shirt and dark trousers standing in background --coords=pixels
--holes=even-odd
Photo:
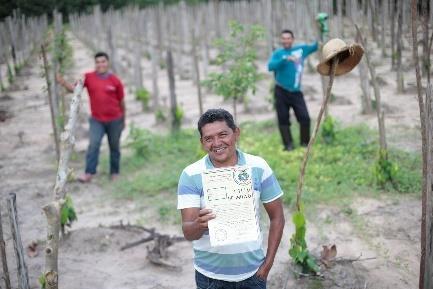
[[[293,149],[290,132],[290,108],[300,125],[300,141],[307,146],[310,141],[310,116],[304,95],[301,91],[301,78],[304,60],[317,51],[318,43],[310,45],[293,45],[295,37],[290,30],[281,32],[282,48],[276,49],[268,62],[268,70],[275,76],[275,108],[277,110],[278,127],[283,139],[284,149]]]

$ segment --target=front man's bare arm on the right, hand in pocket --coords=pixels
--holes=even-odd
[[[278,246],[280,245],[281,237],[284,230],[284,210],[281,198],[272,202],[263,204],[270,219],[269,236],[268,236],[268,250],[266,251],[266,258],[262,266],[257,271],[257,277],[266,280],[269,271],[274,264],[275,255],[277,254]]]

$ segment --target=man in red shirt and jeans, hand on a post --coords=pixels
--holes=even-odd
[[[124,90],[122,82],[109,69],[108,55],[105,52],[98,52],[95,54],[95,70],[84,76],[84,86],[90,99],[91,117],[86,170],[78,178],[81,182],[90,182],[96,174],[101,141],[105,134],[110,147],[111,179],[114,180],[119,175],[120,135],[125,127]],[[74,85],[61,75],[57,76],[57,82],[69,92],[74,91]]]

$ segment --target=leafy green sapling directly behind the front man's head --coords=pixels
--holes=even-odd
[[[236,103],[242,100],[247,103],[247,93],[256,91],[256,82],[260,74],[254,62],[257,59],[256,43],[264,37],[264,29],[252,25],[246,29],[238,22],[229,23],[230,33],[227,39],[217,39],[215,45],[219,48],[216,63],[222,72],[209,73],[202,83],[214,93],[233,101],[233,115],[236,119]]]

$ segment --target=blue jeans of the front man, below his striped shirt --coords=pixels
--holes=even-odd
[[[200,272],[195,271],[197,289],[266,289],[266,280],[257,277],[256,274],[239,282],[216,280]]]

